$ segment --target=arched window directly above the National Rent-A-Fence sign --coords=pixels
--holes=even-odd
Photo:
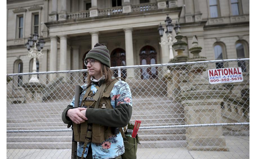
[[[226,47],[225,47],[224,43],[217,42],[217,43],[214,44],[214,57],[215,57],[215,60],[222,60],[222,59],[227,58],[227,56],[226,56]],[[223,62],[216,62],[216,68],[217,69],[224,68],[224,63]]]

